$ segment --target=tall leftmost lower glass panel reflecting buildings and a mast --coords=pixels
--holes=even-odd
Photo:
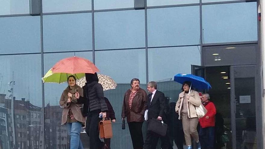
[[[44,142],[41,55],[2,55],[0,63],[0,145],[39,148],[43,144],[34,142]]]

